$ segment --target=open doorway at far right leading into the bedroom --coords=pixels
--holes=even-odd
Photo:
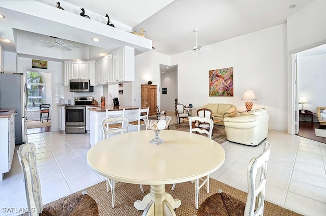
[[[294,56],[297,60],[294,65],[297,73],[295,76],[297,78],[297,87],[295,88],[296,133],[298,136],[326,143],[326,138],[317,137],[315,133],[316,128],[326,129],[320,125],[316,114],[318,106],[326,105],[326,96],[322,94],[325,82],[326,44],[297,52]],[[300,101],[299,98],[302,97],[305,100]],[[312,112],[313,115],[301,113],[303,108],[306,114]]]

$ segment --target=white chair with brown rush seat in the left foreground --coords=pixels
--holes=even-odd
[[[40,179],[36,166],[36,148],[33,143],[22,144],[17,150],[19,163],[24,173],[26,198],[29,212],[22,215],[99,215],[93,198],[75,193],[43,206]]]

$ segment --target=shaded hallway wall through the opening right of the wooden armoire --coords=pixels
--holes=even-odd
[[[175,110],[174,99],[177,95],[177,71],[161,73],[161,88],[159,89],[161,97],[160,110],[173,112]],[[162,88],[167,88],[167,94],[162,94]],[[188,105],[188,104],[184,104]]]

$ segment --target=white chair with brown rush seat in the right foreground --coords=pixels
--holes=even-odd
[[[204,200],[197,211],[197,216],[264,215],[267,161],[270,155],[270,146],[270,143],[265,142],[262,154],[258,157],[253,157],[249,163],[247,169],[248,196],[246,203],[219,190],[218,193]],[[258,178],[256,179],[256,177]]]

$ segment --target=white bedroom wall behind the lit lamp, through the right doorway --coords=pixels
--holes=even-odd
[[[298,97],[305,96],[307,98],[308,103],[304,104],[305,110],[317,113],[317,106],[326,106],[326,94],[324,94],[326,55],[298,58],[297,63]],[[298,107],[301,110],[302,104]],[[310,121],[309,118],[308,121]],[[318,122],[317,115],[314,115],[314,121]]]

